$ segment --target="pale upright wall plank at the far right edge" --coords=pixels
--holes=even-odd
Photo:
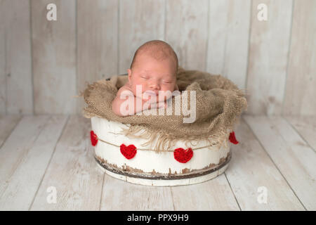
[[[316,1],[294,1],[283,115],[316,115]]]

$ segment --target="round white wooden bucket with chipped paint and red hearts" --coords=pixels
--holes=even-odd
[[[121,129],[128,126],[99,117],[91,118],[94,157],[100,168],[114,178],[148,186],[189,185],[213,179],[229,165],[230,131],[225,141],[217,145],[195,141],[192,146],[186,146],[184,141],[177,141],[172,150],[156,152],[150,150],[155,143],[142,146],[147,139],[120,134]],[[187,162],[180,162],[175,150],[187,156]]]

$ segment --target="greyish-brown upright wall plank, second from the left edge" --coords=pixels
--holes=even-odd
[[[46,6],[57,6],[57,21]],[[76,113],[76,2],[31,1],[35,113]]]

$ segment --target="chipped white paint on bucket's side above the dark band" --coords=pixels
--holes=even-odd
[[[124,134],[119,134],[121,129],[127,129],[126,124],[121,124],[119,122],[113,122],[103,118],[92,117],[92,130],[98,136],[99,139],[107,141],[116,146],[112,146],[109,143],[104,143],[103,141],[98,141],[95,146],[96,156],[106,160],[108,164],[115,164],[119,169],[122,169],[124,165],[132,168],[141,169],[143,172],[159,172],[162,174],[168,174],[177,172],[177,174],[182,174],[183,169],[204,169],[210,164],[218,165],[220,158],[226,158],[230,153],[230,141],[228,141],[228,136],[230,132],[226,135],[226,141],[215,146],[209,146],[207,141],[194,141],[192,146],[190,144],[185,145],[185,141],[177,141],[171,149],[175,148],[200,148],[193,150],[193,156],[190,161],[186,163],[181,163],[175,160],[173,151],[162,151],[156,153],[153,150],[138,150],[136,156],[131,160],[128,160],[121,154],[119,147],[122,143],[126,146],[133,144],[136,148],[152,149],[157,143],[157,139],[146,146],[142,146],[143,143],[147,142],[147,139],[130,138]],[[226,144],[225,144],[226,143]],[[170,170],[169,170],[170,169]]]

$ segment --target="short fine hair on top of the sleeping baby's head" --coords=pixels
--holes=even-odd
[[[135,52],[131,68],[136,62],[136,57],[138,53],[148,53],[152,58],[156,60],[165,60],[166,58],[172,58],[176,63],[176,71],[178,70],[178,56],[172,47],[165,41],[152,40],[147,41],[145,44],[142,44]]]

